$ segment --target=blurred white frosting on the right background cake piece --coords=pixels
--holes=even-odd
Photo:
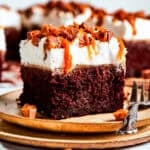
[[[103,26],[112,32],[116,36],[119,36],[125,40],[145,40],[150,39],[150,20],[136,18],[135,29],[136,34],[133,34],[133,28],[127,21],[115,20],[112,21],[112,16],[105,16],[103,20]]]

